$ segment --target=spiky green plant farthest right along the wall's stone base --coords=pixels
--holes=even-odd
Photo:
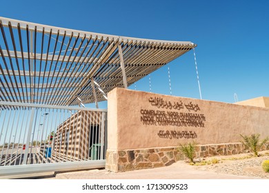
[[[269,138],[266,137],[266,139],[263,139],[263,141],[259,142],[259,136],[260,134],[251,134],[250,136],[241,135],[243,138],[241,143],[243,143],[243,145],[245,145],[247,148],[250,148],[255,156],[259,155],[258,152],[261,150],[261,147],[269,141]]]

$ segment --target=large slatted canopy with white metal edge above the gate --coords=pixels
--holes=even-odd
[[[103,101],[113,88],[127,87],[197,46],[190,41],[119,37],[4,17],[0,28],[0,100],[11,102]]]

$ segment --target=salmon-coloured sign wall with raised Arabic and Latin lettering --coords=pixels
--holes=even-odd
[[[259,133],[262,138],[269,136],[269,108],[122,88],[108,93],[108,170],[135,170],[140,168],[137,165],[141,162],[144,167],[149,160],[143,156],[149,155],[149,151],[153,154],[158,152],[158,157],[155,156],[146,167],[154,167],[154,163],[166,165],[169,156],[166,156],[168,160],[161,161],[160,148],[175,148],[179,143],[188,141],[196,141],[200,145],[232,144],[240,141],[239,134],[252,133]],[[236,149],[238,152],[238,147]],[[177,161],[179,157],[171,151],[174,156],[170,156],[170,161]],[[137,163],[139,155],[143,158]],[[111,161],[112,156],[117,163]]]

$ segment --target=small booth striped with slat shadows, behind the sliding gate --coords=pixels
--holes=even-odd
[[[106,117],[100,112],[79,111],[58,126],[54,138],[52,152],[78,161],[105,159]]]

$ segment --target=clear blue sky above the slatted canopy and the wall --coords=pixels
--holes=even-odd
[[[203,99],[269,96],[269,1],[3,1],[1,16],[51,26],[146,39],[192,41]],[[170,64],[172,94],[199,99],[193,52]],[[168,68],[152,92],[170,94]],[[135,89],[131,85],[130,89]],[[148,77],[137,90],[149,91]]]

